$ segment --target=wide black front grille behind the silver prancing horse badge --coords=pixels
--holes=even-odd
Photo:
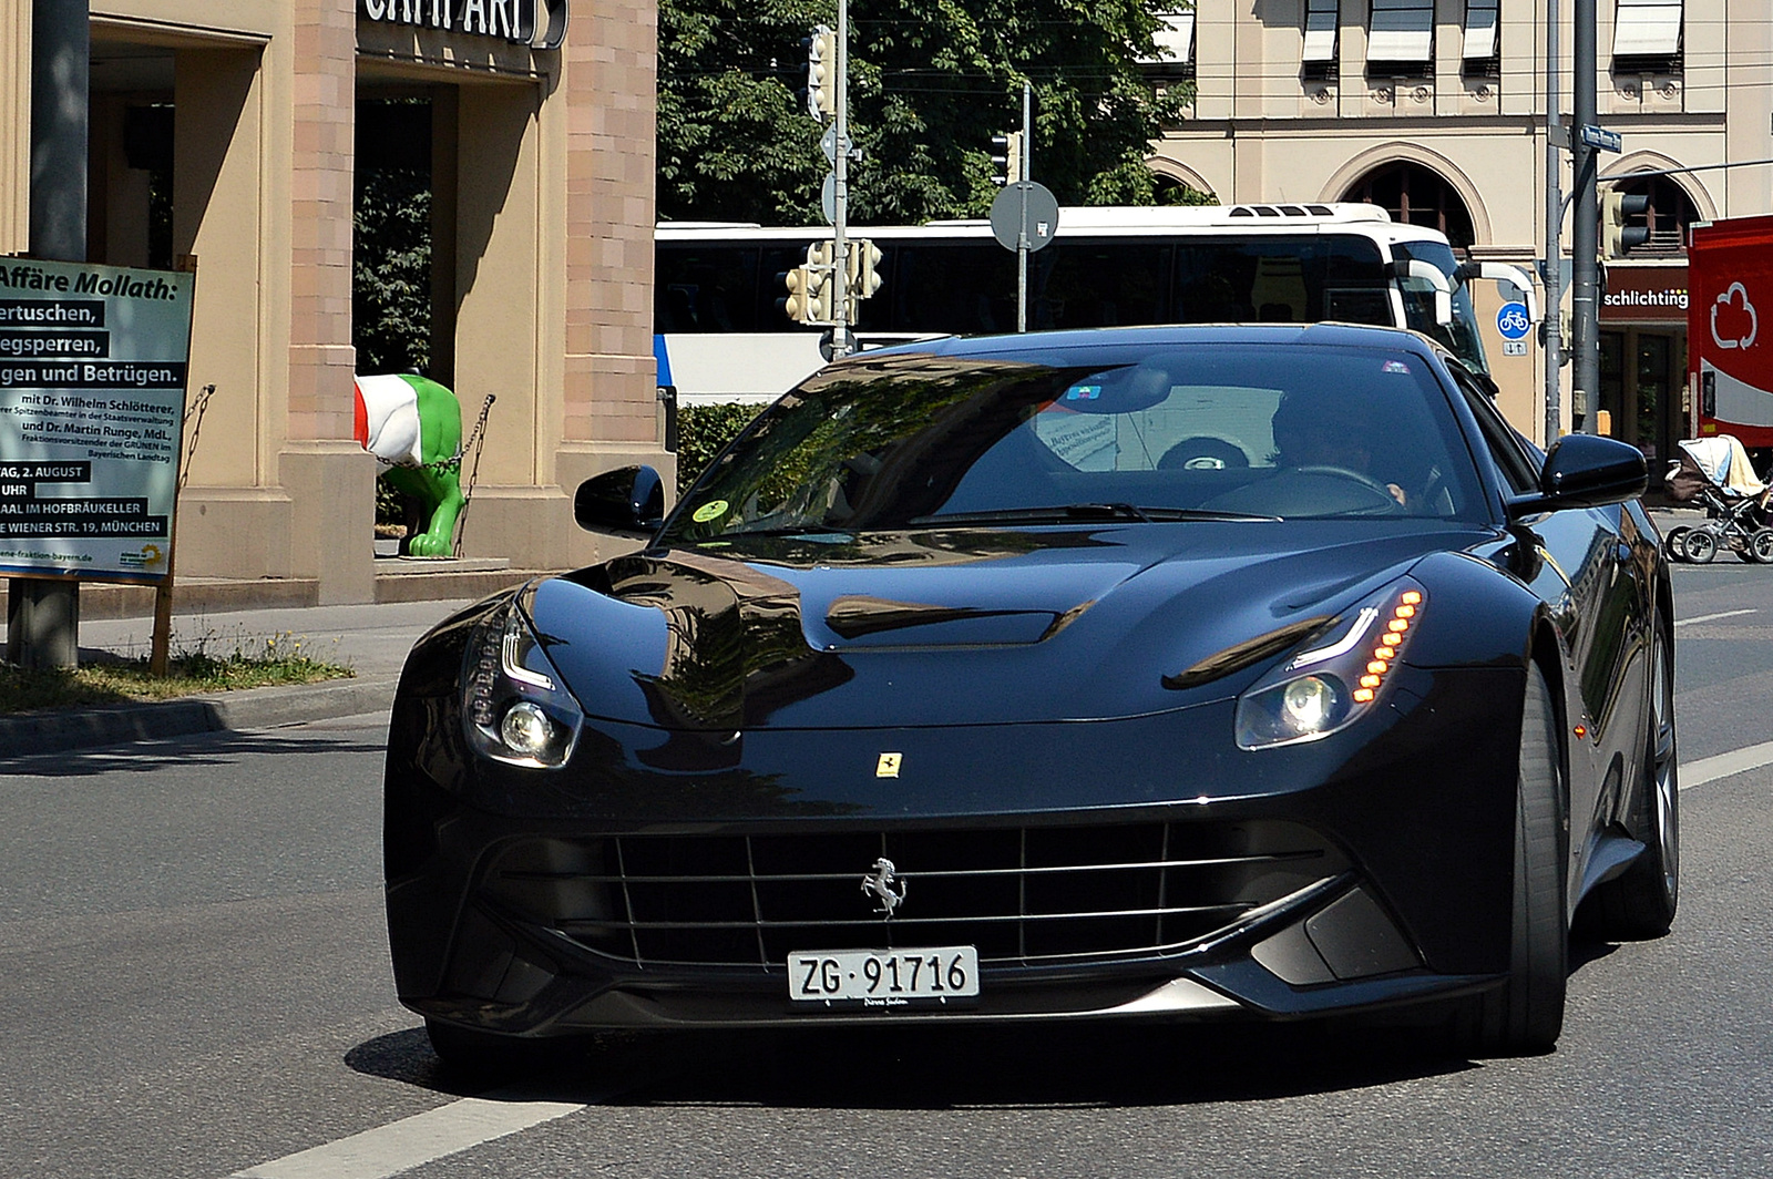
[[[862,886],[881,858],[904,890],[892,920]],[[511,846],[484,890],[638,966],[927,945],[1014,966],[1184,950],[1344,867],[1293,823],[610,835]]]

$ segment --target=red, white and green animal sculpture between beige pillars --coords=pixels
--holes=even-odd
[[[461,402],[422,376],[356,378],[356,441],[387,468],[388,482],[420,507],[408,530],[411,557],[456,553],[461,493]]]

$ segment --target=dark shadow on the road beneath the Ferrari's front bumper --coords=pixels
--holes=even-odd
[[[1420,1030],[1317,1023],[621,1034],[480,1078],[441,1064],[413,1028],[358,1044],[346,1064],[456,1096],[844,1110],[1271,1101],[1479,1067],[1425,1050]]]

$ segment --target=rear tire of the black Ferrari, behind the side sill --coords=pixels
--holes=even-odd
[[[1651,642],[1651,699],[1644,769],[1631,803],[1631,833],[1644,855],[1582,902],[1582,936],[1601,941],[1660,938],[1681,902],[1681,762],[1675,752],[1672,647],[1658,619]]]

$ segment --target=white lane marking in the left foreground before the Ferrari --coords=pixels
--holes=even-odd
[[[399,1122],[238,1170],[229,1179],[387,1179],[583,1108],[562,1101],[463,1097]]]

